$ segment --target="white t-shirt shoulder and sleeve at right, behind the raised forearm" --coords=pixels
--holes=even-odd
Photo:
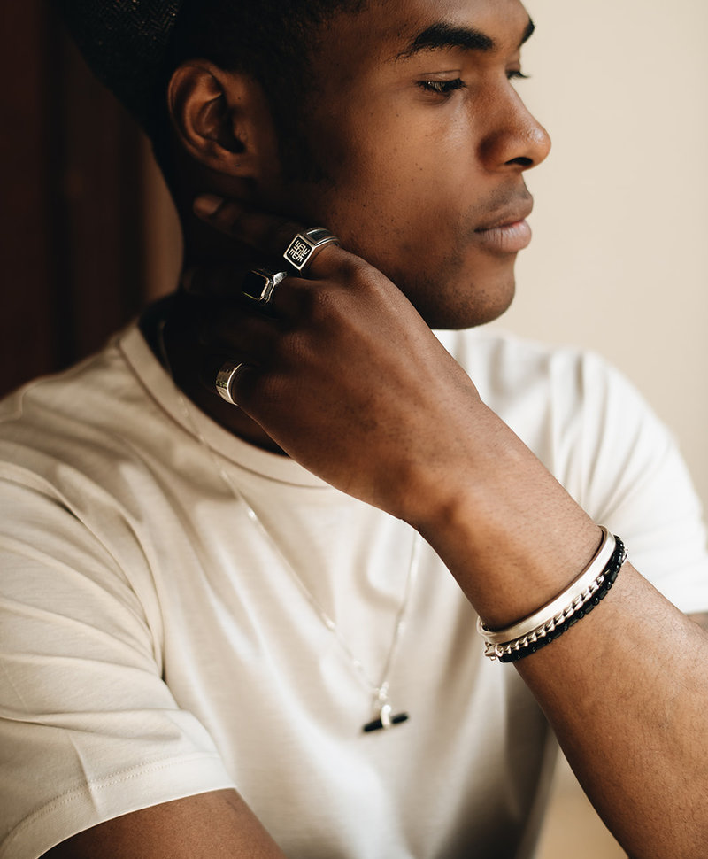
[[[481,398],[684,611],[708,606],[702,509],[670,430],[594,352],[495,330],[445,332]]]

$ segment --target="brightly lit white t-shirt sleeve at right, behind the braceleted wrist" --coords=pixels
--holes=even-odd
[[[568,422],[580,443],[561,456],[573,495],[668,600],[688,614],[708,610],[703,511],[673,435],[604,360],[586,355],[574,372],[581,408]]]

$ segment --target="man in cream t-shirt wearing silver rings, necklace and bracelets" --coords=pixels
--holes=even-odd
[[[80,12],[187,274],[4,405],[0,856],[530,855],[543,713],[631,855],[701,855],[708,638],[634,566],[708,609],[681,463],[596,360],[458,331],[549,149],[527,12],[172,4],[166,71]]]

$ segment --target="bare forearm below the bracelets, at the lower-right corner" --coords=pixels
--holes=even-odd
[[[708,843],[708,635],[626,564],[601,607],[517,663],[629,855]]]

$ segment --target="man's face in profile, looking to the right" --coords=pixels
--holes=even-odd
[[[279,205],[331,229],[429,325],[503,313],[530,233],[523,180],[550,142],[514,89],[530,33],[518,0],[374,0],[328,25],[308,133],[327,180]]]

